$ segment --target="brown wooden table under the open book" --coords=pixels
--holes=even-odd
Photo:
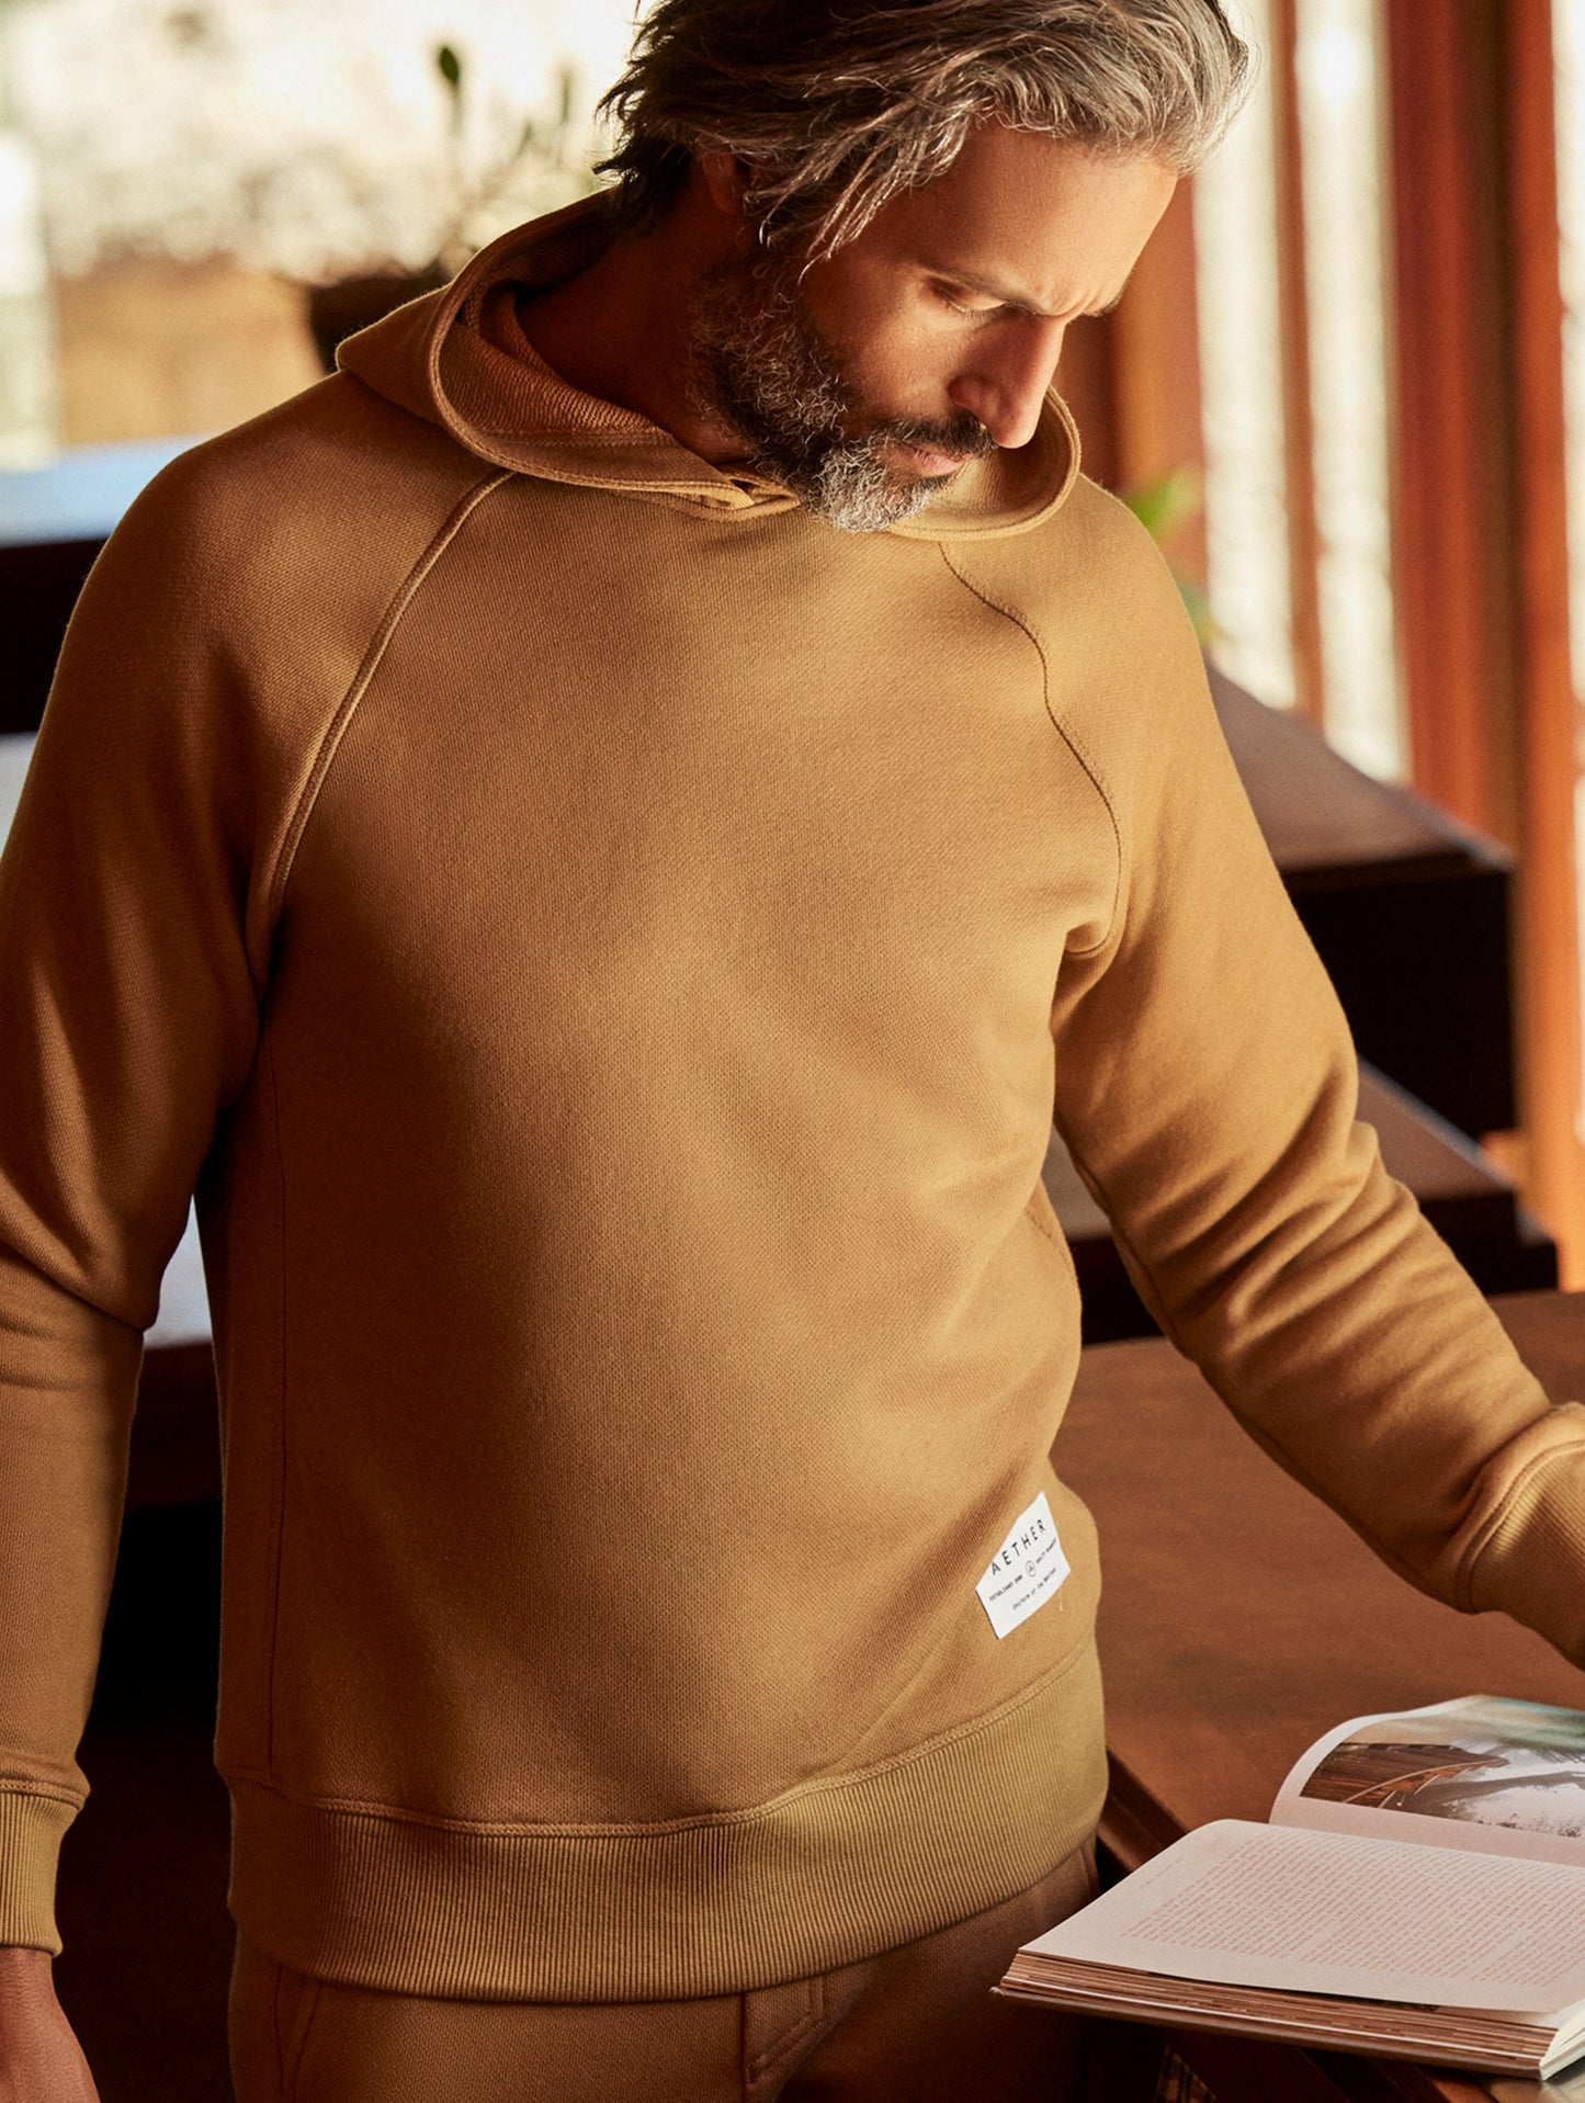
[[[1495,1308],[1547,1392],[1585,1398],[1585,1293]],[[1085,1352],[1055,1464],[1102,1529],[1102,1842],[1125,1867],[1209,1819],[1265,1819],[1295,1758],[1350,1716],[1461,1693],[1585,1708],[1585,1674],[1539,1636],[1396,1577],[1165,1342]],[[1173,2044],[1219,2103],[1585,2099],[1579,2080],[1448,2076],[1238,2038]]]

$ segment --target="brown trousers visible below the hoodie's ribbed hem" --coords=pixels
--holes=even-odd
[[[990,1987],[1093,1893],[1083,1851],[940,1935],[715,2000],[416,2000],[305,1979],[244,1941],[238,2103],[1078,2103],[1083,2025]]]

